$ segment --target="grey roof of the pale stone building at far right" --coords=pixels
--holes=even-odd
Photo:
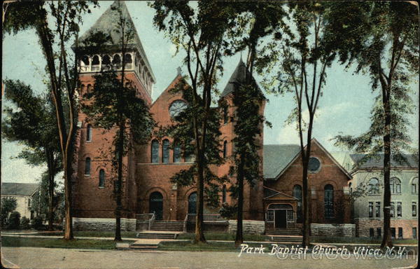
[[[350,154],[351,160],[354,163],[357,163],[366,154]],[[397,160],[391,157],[391,167],[394,168],[419,168],[419,160],[418,157],[413,154],[404,154],[405,158],[407,158],[407,163],[400,163]],[[384,154],[381,154],[379,158],[370,158],[365,163],[361,164],[359,169],[363,168],[382,168],[384,167]]]

